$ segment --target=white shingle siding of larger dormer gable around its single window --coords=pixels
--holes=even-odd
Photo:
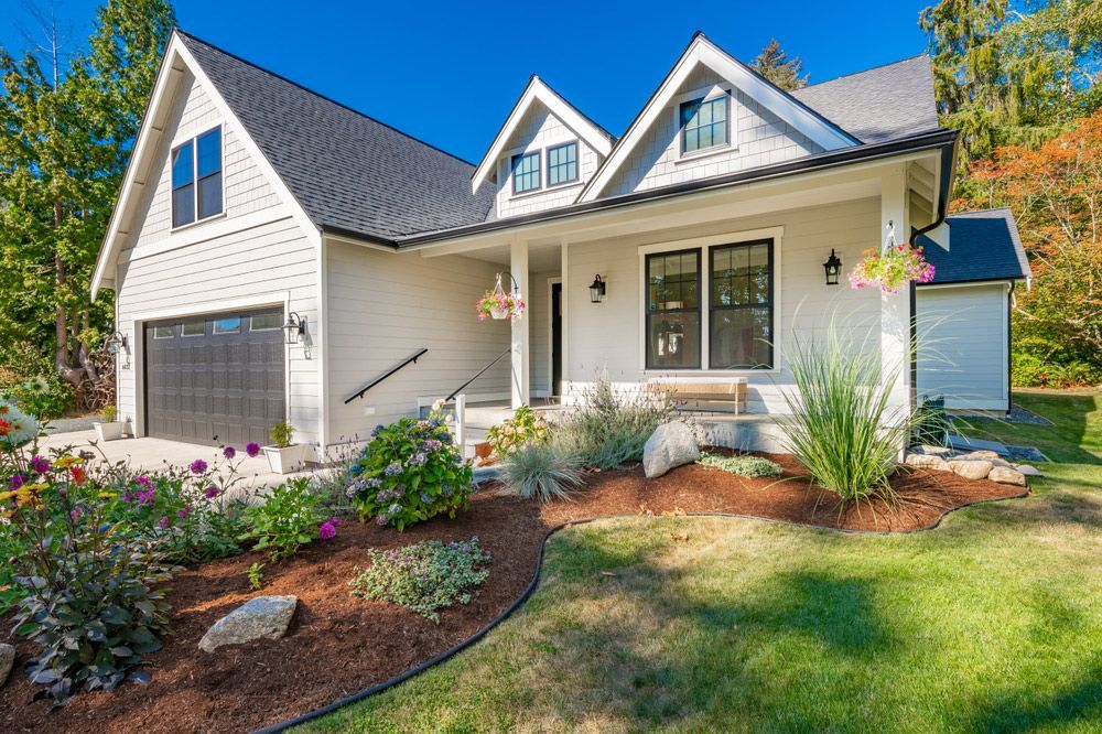
[[[682,159],[681,102],[688,101],[685,95],[704,94],[716,85],[731,89],[732,93],[730,119],[735,144],[711,154]],[[690,75],[674,96],[674,101],[661,111],[653,127],[646,131],[637,145],[605,187],[607,195],[735,173],[823,150],[706,67],[700,67]]]

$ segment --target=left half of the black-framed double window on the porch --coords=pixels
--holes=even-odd
[[[700,250],[647,256],[647,369],[700,369]]]

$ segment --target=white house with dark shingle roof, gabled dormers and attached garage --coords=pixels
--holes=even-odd
[[[486,368],[472,400],[570,400],[603,371],[745,380],[768,415],[786,348],[839,314],[899,367],[900,404],[960,382],[1005,409],[1008,330],[976,327],[1002,339],[982,352],[948,334],[966,379],[927,358],[916,385],[914,291],[845,284],[890,228],[975,273],[923,288],[920,310],[1005,316],[1027,266],[1016,238],[946,225],[955,142],[925,56],[788,94],[696,34],[619,138],[533,76],[473,165],[176,31],[93,282],[126,337],[119,413],[193,442],[263,441],[287,419],[326,446]],[[1006,244],[1018,269],[988,268]],[[477,321],[504,271],[527,315]]]

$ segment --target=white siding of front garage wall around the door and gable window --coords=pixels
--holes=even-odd
[[[309,350],[288,348],[288,419],[296,440],[321,438],[317,247],[312,234],[279,201],[272,183],[252,161],[237,132],[226,126],[209,95],[187,79],[174,101],[171,133],[158,151],[155,181],[142,209],[141,225],[119,255],[116,302],[119,330],[131,345],[120,363],[119,413],[142,430],[142,320],[226,309],[284,304],[305,316]],[[174,143],[223,125],[225,216],[171,229],[169,153]],[[128,366],[129,365],[129,366]]]

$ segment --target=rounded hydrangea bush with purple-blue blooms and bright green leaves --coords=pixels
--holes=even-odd
[[[399,531],[443,512],[454,518],[474,487],[471,465],[439,414],[376,428],[349,474],[347,495],[360,519]]]

